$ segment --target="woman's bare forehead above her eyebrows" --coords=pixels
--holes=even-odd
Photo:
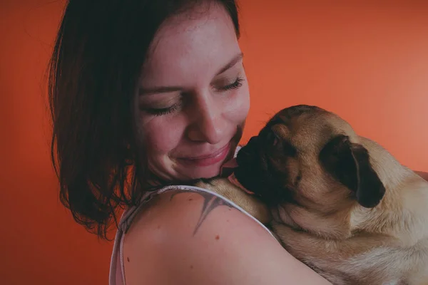
[[[143,66],[142,85],[185,84],[215,76],[240,53],[233,22],[220,5],[165,21]]]

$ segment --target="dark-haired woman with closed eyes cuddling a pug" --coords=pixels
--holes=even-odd
[[[329,284],[224,198],[163,187],[233,157],[250,106],[238,37],[233,0],[68,2],[51,61],[53,157],[87,229],[106,238],[126,207],[110,284]]]

